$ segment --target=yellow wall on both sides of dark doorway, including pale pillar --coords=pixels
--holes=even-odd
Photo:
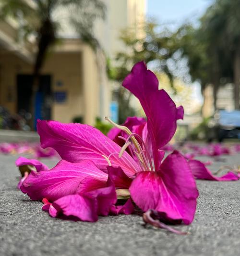
[[[17,111],[16,75],[31,74],[32,65],[12,53],[0,55],[0,105]],[[64,103],[54,102],[52,119],[72,122],[75,116],[94,124],[99,114],[99,85],[95,58],[91,49],[83,52],[56,52],[48,56],[42,74],[52,75],[52,91],[66,91]],[[61,81],[62,86],[57,86]],[[12,98],[10,97],[12,95]]]

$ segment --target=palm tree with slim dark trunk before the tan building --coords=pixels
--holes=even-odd
[[[12,16],[24,20],[24,38],[36,36],[36,59],[33,69],[31,112],[34,122],[36,92],[39,89],[39,75],[49,49],[57,42],[60,20],[54,18],[56,10],[68,10],[69,24],[76,29],[81,39],[92,48],[98,46],[94,37],[94,21],[105,18],[105,5],[101,0],[0,0],[2,17]],[[64,20],[64,22],[66,22]]]

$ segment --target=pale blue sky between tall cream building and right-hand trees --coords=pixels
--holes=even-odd
[[[191,21],[197,25],[198,18],[211,5],[213,0],[147,0],[147,17],[155,18],[158,24],[166,24],[171,30]],[[192,97],[203,102],[201,87],[192,84]]]

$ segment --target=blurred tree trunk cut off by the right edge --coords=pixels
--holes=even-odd
[[[240,109],[240,47],[236,50],[235,60],[234,60],[234,106],[235,110]]]

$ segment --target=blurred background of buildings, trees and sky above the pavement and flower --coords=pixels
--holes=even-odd
[[[105,116],[144,116],[121,82],[145,61],[184,106],[175,141],[238,140],[239,13],[240,0],[0,0],[0,133],[52,119],[106,134]]]

